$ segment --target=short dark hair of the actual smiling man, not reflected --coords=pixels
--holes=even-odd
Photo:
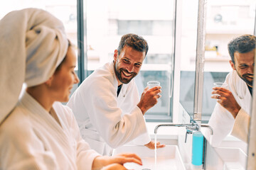
[[[132,33],[122,36],[119,42],[119,46],[117,48],[118,55],[120,55],[120,52],[125,46],[132,47],[132,49],[137,50],[139,52],[147,53],[149,50],[149,45],[147,44],[146,40],[144,40],[144,38],[140,37],[139,35],[135,35]]]

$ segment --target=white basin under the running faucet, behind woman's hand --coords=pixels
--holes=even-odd
[[[127,169],[142,170],[185,170],[181,154],[176,145],[166,145],[164,148],[157,149],[156,165],[154,149],[144,146],[125,145],[114,149],[113,155],[122,153],[135,153],[142,158],[142,166],[134,163],[127,163],[124,166]]]

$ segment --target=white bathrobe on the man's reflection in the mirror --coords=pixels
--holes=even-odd
[[[230,112],[216,103],[208,123],[213,128],[214,134],[211,137],[211,143],[214,147],[218,147],[230,132],[231,135],[247,142],[252,96],[247,84],[238,76],[235,70],[227,75],[225,83],[228,84],[228,90],[232,92],[241,109],[237,117],[233,118]]]

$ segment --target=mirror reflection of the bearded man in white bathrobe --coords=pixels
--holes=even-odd
[[[228,43],[230,66],[233,71],[225,78],[228,88],[214,87],[211,96],[217,103],[208,125],[213,128],[211,144],[218,147],[220,142],[231,135],[247,142],[252,101],[252,81],[255,57],[254,35],[242,35]]]

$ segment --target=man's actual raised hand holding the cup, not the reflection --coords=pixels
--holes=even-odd
[[[142,93],[141,100],[137,106],[141,109],[144,115],[149,108],[153,107],[157,103],[157,99],[161,98],[161,86],[155,86],[152,89],[146,87]]]

